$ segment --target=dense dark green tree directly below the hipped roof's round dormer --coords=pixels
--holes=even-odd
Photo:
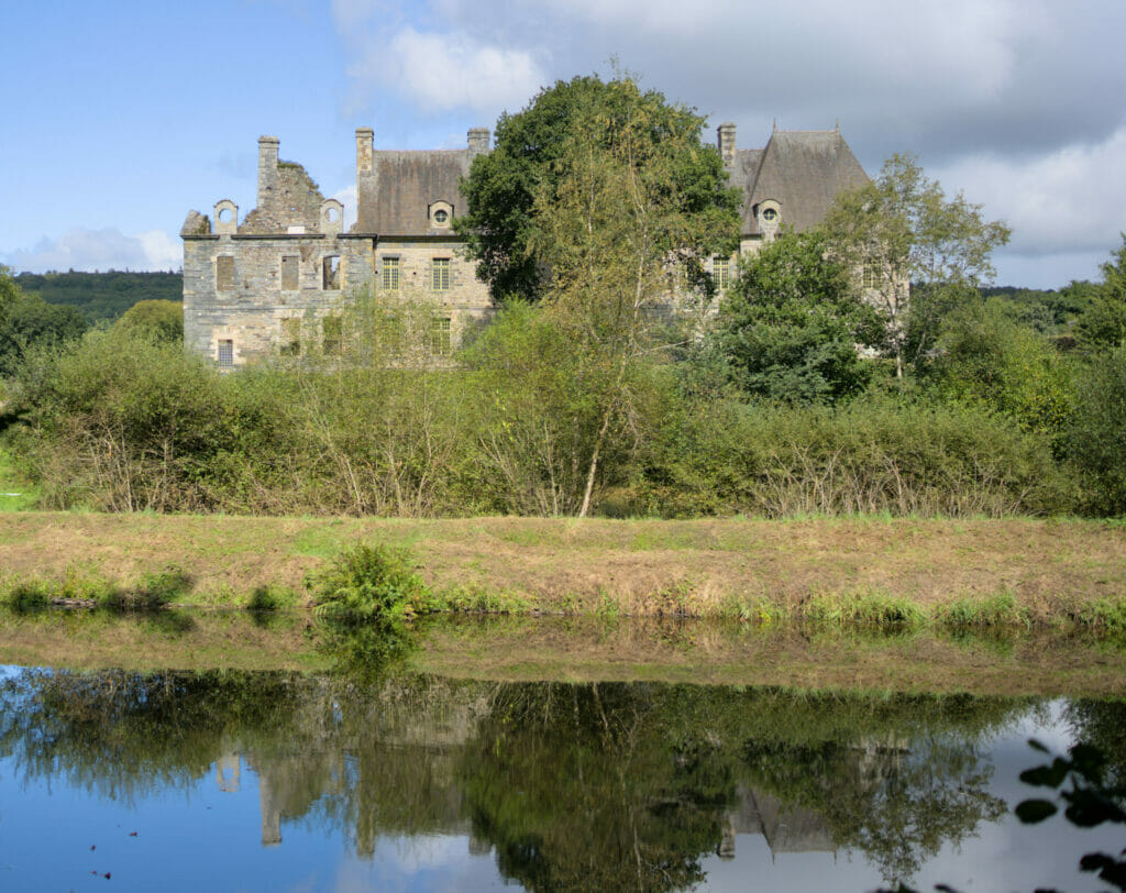
[[[879,314],[820,231],[785,235],[747,259],[716,331],[740,386],[792,403],[863,390],[872,364],[857,346],[883,340]]]

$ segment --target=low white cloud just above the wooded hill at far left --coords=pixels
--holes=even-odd
[[[47,270],[175,270],[182,266],[178,239],[163,230],[126,235],[107,226],[68,230],[57,239],[44,236],[32,248],[9,251],[3,262],[19,273]]]

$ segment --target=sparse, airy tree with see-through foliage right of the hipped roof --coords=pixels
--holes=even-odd
[[[986,221],[982,206],[962,193],[947,199],[937,180],[928,180],[912,154],[884,162],[879,178],[837,197],[825,217],[834,249],[873,284],[869,292],[883,311],[903,376],[909,286],[976,287],[994,275],[990,256],[1009,241],[1011,230]]]

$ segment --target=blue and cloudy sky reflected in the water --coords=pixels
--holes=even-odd
[[[0,668],[0,678],[11,675]],[[1018,774],[1040,760],[1036,736],[1069,743],[1061,705],[1018,723],[992,745],[991,793],[1011,807],[1033,795]],[[133,837],[132,832],[136,832]],[[25,780],[12,759],[0,760],[0,888],[193,891],[464,891],[504,885],[491,852],[471,852],[465,834],[378,837],[372,858],[355,855],[348,836],[310,816],[282,821],[282,843],[261,843],[258,776],[241,766],[239,789],[218,789],[214,767],[182,787],[129,796],[93,795],[63,777]],[[1121,847],[1120,829],[1075,833],[1058,816],[1022,827],[1004,816],[978,828],[960,849],[946,846],[912,878],[919,890],[947,883],[963,891],[1070,891],[1099,887],[1078,872],[1092,849]],[[873,890],[883,883],[861,852],[781,852],[760,834],[739,834],[735,858],[701,859],[714,891]],[[111,875],[106,886],[105,873]]]

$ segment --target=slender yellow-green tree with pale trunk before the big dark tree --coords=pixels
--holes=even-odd
[[[551,176],[534,194],[527,250],[549,271],[545,300],[560,336],[581,348],[575,386],[595,420],[582,517],[607,438],[632,414],[670,264],[732,251],[738,216],[718,153],[700,144],[697,115],[643,93],[628,77],[588,93],[572,113]]]

